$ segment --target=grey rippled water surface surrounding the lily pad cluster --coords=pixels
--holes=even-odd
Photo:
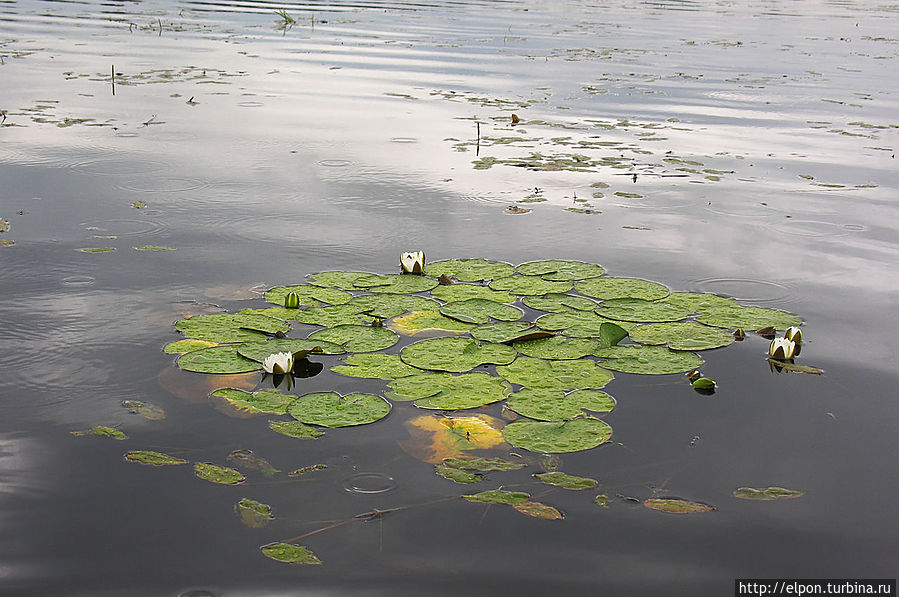
[[[897,17],[878,2],[0,2],[0,593],[895,578]],[[393,272],[415,249],[578,259],[787,310],[801,362],[825,373],[772,373],[750,334],[702,351],[712,396],[680,374],[616,374],[612,440],[561,455],[599,481],[575,492],[509,446],[491,455],[526,468],[438,477],[410,448],[422,411],[406,402],[314,441],[278,435],[162,351],[185,315],[261,308],[314,272]],[[295,393],[387,389],[317,360]],[[94,425],[128,438],[70,433]],[[124,459],[138,449],[220,464],[251,449],[281,472],[221,486]],[[499,485],[564,519],[459,499]],[[805,495],[734,497],[744,486]],[[654,496],[716,510],[640,504]],[[274,520],[242,524],[243,497]],[[276,541],[323,565],[260,553]]]

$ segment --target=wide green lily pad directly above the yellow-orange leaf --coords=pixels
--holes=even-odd
[[[463,375],[449,373],[421,373],[395,379],[387,384],[391,400],[414,400],[419,408],[462,410],[479,408],[504,400],[512,393],[512,386],[489,373]]]

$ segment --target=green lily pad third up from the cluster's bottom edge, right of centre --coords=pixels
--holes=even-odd
[[[496,372],[511,383],[557,390],[601,388],[614,378],[612,372],[588,359],[544,361],[518,357],[510,365],[497,367]]]

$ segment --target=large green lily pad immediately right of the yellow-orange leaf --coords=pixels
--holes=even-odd
[[[612,428],[592,417],[562,422],[518,419],[503,428],[503,437],[516,448],[561,454],[589,450],[609,441]]]

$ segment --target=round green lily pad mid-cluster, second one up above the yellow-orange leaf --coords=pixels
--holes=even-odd
[[[515,349],[505,344],[480,344],[469,338],[430,338],[406,346],[400,358],[419,369],[461,373],[487,363],[511,363]]]

